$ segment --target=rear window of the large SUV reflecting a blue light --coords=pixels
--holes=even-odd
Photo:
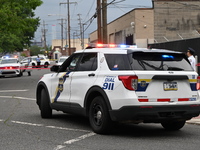
[[[186,56],[181,53],[134,52],[131,55],[133,70],[193,70]]]

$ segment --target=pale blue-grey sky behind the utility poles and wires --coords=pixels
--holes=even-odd
[[[35,33],[34,41],[41,41],[42,30],[46,30],[47,44],[52,39],[61,39],[61,19],[67,20],[67,0],[42,0],[43,4],[35,10],[35,17],[40,18],[40,26]],[[110,3],[114,0],[107,0]],[[97,29],[97,19],[90,20],[95,14],[97,0],[69,0],[71,38],[80,38],[80,23],[84,25],[84,37]],[[111,22],[134,8],[150,8],[152,0],[115,0],[107,8],[107,22]],[[64,38],[67,22],[63,22]],[[74,36],[73,36],[74,35]],[[76,36],[77,35],[77,36]]]

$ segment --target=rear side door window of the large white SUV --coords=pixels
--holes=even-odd
[[[77,71],[94,71],[97,69],[97,53],[84,53]]]

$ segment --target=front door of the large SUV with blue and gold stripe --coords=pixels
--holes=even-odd
[[[52,102],[69,102],[71,78],[81,54],[71,55],[52,77]]]

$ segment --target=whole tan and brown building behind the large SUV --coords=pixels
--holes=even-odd
[[[152,6],[133,9],[110,22],[108,43],[147,47],[200,37],[200,0],[152,0]],[[97,31],[90,34],[90,42],[97,42]]]

